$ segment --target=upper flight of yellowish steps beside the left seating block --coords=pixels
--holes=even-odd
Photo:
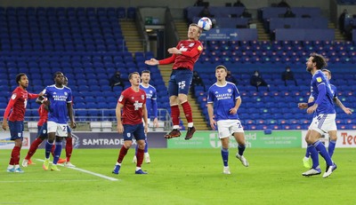
[[[134,20],[120,20],[122,33],[129,52],[143,51],[143,41],[137,31]]]

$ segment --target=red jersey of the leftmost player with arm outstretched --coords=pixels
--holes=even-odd
[[[12,97],[9,100],[9,104],[13,103],[9,121],[23,121],[25,118],[26,106],[28,105],[28,99],[36,99],[37,97],[37,94],[28,93],[28,91],[23,90],[20,87],[13,90]]]

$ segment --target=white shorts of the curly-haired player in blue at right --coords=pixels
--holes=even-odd
[[[337,130],[335,119],[336,114],[319,114],[312,118],[309,130],[316,130],[320,135],[328,133],[329,130]]]

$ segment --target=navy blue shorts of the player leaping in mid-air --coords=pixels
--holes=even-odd
[[[169,97],[178,96],[180,93],[188,95],[192,78],[193,72],[188,68],[173,70],[168,82]]]

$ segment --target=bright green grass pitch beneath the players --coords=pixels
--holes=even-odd
[[[118,149],[76,149],[77,168],[42,170],[44,150],[25,173],[7,173],[10,150],[0,151],[0,204],[355,204],[356,150],[336,149],[338,169],[328,178],[302,177],[301,148],[247,149],[245,168],[230,149],[231,175],[223,175],[220,149],[150,149],[145,176],[134,175],[134,149],[119,175],[111,174]],[[27,150],[21,152],[21,161]],[[63,150],[64,153],[64,150]],[[62,154],[63,154],[62,153]],[[320,158],[321,169],[325,162]]]

